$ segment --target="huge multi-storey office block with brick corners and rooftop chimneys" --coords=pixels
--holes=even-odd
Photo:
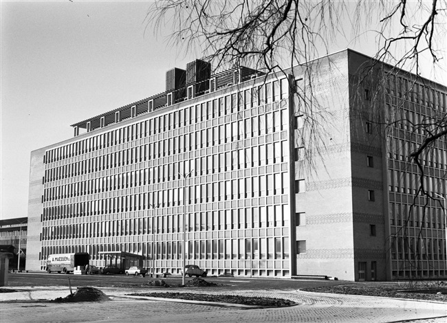
[[[417,196],[406,159],[411,122],[446,106],[446,87],[349,49],[270,76],[172,69],[164,93],[31,153],[27,269],[88,252],[171,274],[185,256],[208,275],[446,278],[442,200]],[[445,138],[422,163],[446,197]]]

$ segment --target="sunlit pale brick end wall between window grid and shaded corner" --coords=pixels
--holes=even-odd
[[[318,60],[312,72],[319,107],[312,115],[316,129],[305,133],[312,164],[296,161],[295,179],[306,181],[305,193],[296,194],[295,211],[306,217],[296,226],[296,240],[306,241],[306,252],[296,254],[296,274],[354,280],[347,52]],[[306,142],[312,131],[318,138]]]

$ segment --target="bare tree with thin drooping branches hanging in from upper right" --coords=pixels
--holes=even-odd
[[[404,104],[396,104],[392,118],[384,118],[380,111],[385,102],[386,85],[394,81],[399,69],[419,75],[426,69],[424,64],[429,62],[433,71],[446,73],[446,10],[445,0],[171,0],[156,1],[147,19],[156,30],[170,25],[171,45],[188,53],[199,51],[197,56],[212,62],[215,69],[242,65],[270,74],[303,65],[305,82],[294,91],[303,99],[300,101],[312,129],[318,126],[318,120],[321,121],[314,118],[315,115],[323,115],[324,108],[312,91],[312,73],[306,62],[329,54],[334,43],[340,40],[348,43],[349,39],[367,34],[377,44],[374,58],[394,67],[382,74],[378,86],[370,93],[371,102],[375,102],[370,104],[371,119],[388,130],[405,123],[413,133],[422,135],[422,141],[405,154],[406,159],[417,166],[419,174],[412,207],[416,207],[417,198],[426,198],[425,216],[430,199],[442,203],[433,190],[446,194],[445,183],[444,188],[427,189],[424,162],[433,148],[446,145],[447,114],[440,112],[423,120],[409,120]],[[364,67],[364,78],[358,80],[358,84],[374,82],[369,76],[378,68],[375,64]],[[402,98],[409,99],[417,91],[413,83],[406,87]],[[359,95],[362,95],[360,91]],[[314,140],[314,146],[325,148],[317,137]],[[408,214],[411,212],[408,210]],[[402,232],[408,228],[408,219],[402,223]],[[405,241],[405,234],[403,238]],[[406,245],[410,249],[421,249],[408,241]]]

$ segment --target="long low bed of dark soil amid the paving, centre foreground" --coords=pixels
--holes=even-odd
[[[296,305],[296,303],[292,302],[291,300],[283,300],[280,298],[261,298],[234,295],[209,295],[199,293],[134,293],[129,295],[155,298],[177,298],[181,300],[195,300],[198,302],[243,304],[257,307],[290,307]]]

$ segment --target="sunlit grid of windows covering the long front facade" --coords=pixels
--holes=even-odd
[[[42,259],[83,249],[95,261],[119,250],[153,255],[176,273],[179,263],[164,260],[182,259],[180,174],[192,170],[188,259],[259,260],[250,274],[287,275],[282,262],[274,271],[265,263],[289,258],[287,91],[276,80],[47,151]],[[146,242],[127,242],[133,236]],[[246,264],[230,268],[239,274]]]

